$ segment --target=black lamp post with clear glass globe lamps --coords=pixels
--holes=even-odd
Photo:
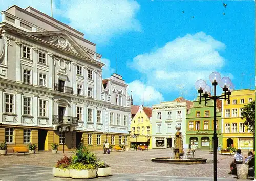
[[[217,181],[218,137],[216,132],[216,102],[218,99],[224,99],[224,100],[227,100],[229,104],[230,103],[229,97],[231,95],[231,92],[234,90],[234,85],[232,84],[231,80],[228,77],[223,77],[221,79],[221,75],[218,72],[212,72],[209,76],[209,80],[212,83],[212,86],[214,86],[214,96],[209,95],[211,92],[211,87],[207,85],[206,82],[202,79],[196,82],[195,87],[198,90],[198,93],[200,94],[200,97],[199,97],[200,103],[202,101],[202,98],[204,98],[205,106],[208,100],[214,101],[214,136],[212,137],[212,139],[214,140],[214,181]],[[216,96],[216,86],[218,85],[218,83],[222,88],[222,90],[224,91],[224,94],[220,96]]]

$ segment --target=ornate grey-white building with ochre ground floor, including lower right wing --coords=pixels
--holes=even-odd
[[[38,150],[128,145],[127,84],[117,74],[102,82],[96,44],[32,7],[1,15],[0,141],[9,150],[29,142]]]

